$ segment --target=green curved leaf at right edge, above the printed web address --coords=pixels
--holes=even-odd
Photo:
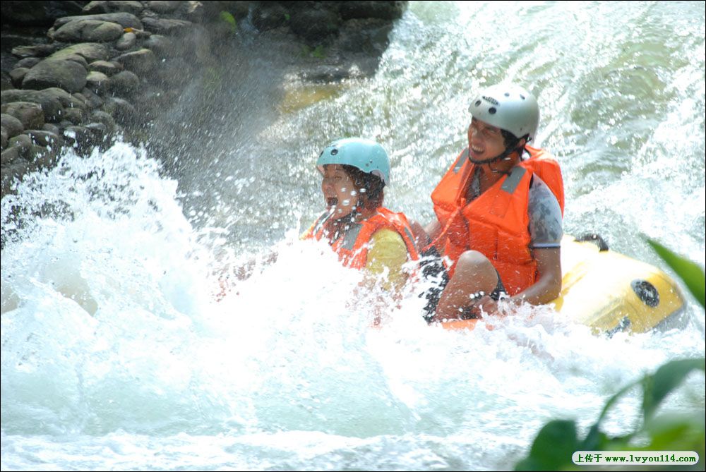
[[[642,414],[645,420],[650,418],[662,400],[683,382],[692,370],[706,372],[706,358],[680,359],[662,365],[654,375],[645,377],[642,399]]]

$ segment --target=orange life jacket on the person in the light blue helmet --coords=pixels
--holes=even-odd
[[[410,260],[418,260],[419,254],[414,246],[414,236],[409,227],[407,218],[402,213],[391,212],[387,208],[379,207],[377,213],[363,222],[351,223],[350,228],[333,242],[331,248],[338,254],[338,258],[346,267],[362,269],[368,260],[368,246],[373,234],[380,229],[392,229],[402,236],[407,246]],[[326,222],[330,218],[328,212],[318,217],[316,222],[304,234],[305,239],[326,238]]]

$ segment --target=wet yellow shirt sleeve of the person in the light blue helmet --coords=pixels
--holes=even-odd
[[[388,272],[388,278],[382,281],[386,290],[400,289],[407,282],[407,274],[402,265],[407,262],[407,246],[402,236],[392,229],[380,229],[370,238],[368,260],[365,270],[369,275],[378,276]]]

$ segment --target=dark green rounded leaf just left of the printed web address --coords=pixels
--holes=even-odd
[[[544,425],[532,443],[530,456],[517,463],[516,471],[559,471],[573,465],[571,454],[580,450],[573,420],[553,420]]]

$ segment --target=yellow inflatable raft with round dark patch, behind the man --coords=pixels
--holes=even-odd
[[[681,313],[685,301],[662,270],[609,250],[600,236],[561,241],[561,294],[551,304],[597,333],[647,332]],[[473,329],[477,320],[443,322]]]

